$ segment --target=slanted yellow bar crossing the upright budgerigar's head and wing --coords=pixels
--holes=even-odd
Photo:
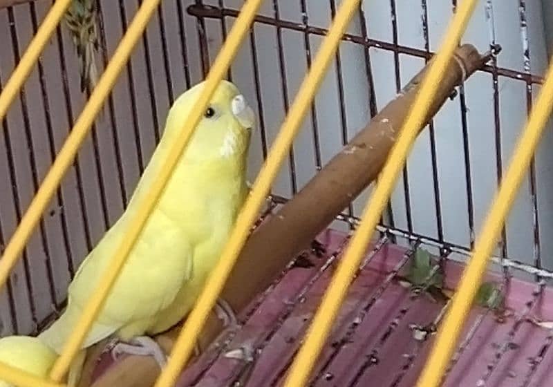
[[[145,28],[147,21],[153,14],[153,11],[158,6],[158,4],[159,1],[156,0],[151,0],[149,2],[144,1],[137,12],[137,15],[135,16],[133,23],[129,27],[129,32],[131,30],[133,30],[133,32],[137,30],[138,32],[138,28],[133,29],[133,26],[135,25]],[[133,221],[130,222],[131,227],[127,232],[126,238],[124,238],[122,243],[118,246],[118,249],[115,251],[115,254],[113,255],[114,258],[111,261],[111,265],[108,267],[108,270],[106,270],[106,274],[102,277],[102,280],[97,287],[97,291],[93,293],[93,296],[91,296],[91,299],[88,301],[86,307],[83,310],[82,317],[75,325],[71,336],[64,346],[64,350],[54,364],[50,372],[50,377],[52,377],[53,380],[61,379],[71,365],[73,357],[75,357],[82,341],[84,340],[84,337],[86,337],[86,333],[91,328],[93,321],[97,317],[97,314],[100,312],[104,301],[109,295],[111,287],[118,279],[118,274],[122,270],[126,258],[129,256],[129,252],[131,251],[135,241],[138,239],[140,232],[142,232],[142,229],[144,228],[144,225],[146,224],[151,211],[153,211],[153,207],[156,205],[156,202],[158,202],[163,189],[165,189],[165,185],[167,184],[171,173],[173,173],[173,170],[176,167],[176,163],[178,162],[182,151],[185,149],[187,142],[191,138],[191,134],[200,121],[200,118],[203,115],[203,111],[205,111],[207,104],[209,104],[209,100],[215,92],[219,82],[223,78],[224,73],[227,71],[230,62],[234,58],[234,55],[236,55],[238,46],[241,43],[241,39],[247,32],[247,29],[250,27],[253,15],[255,15],[255,12],[259,8],[260,4],[261,1],[259,0],[250,0],[243,7],[243,15],[241,15],[241,18],[236,21],[236,27],[232,29],[227,42],[225,42],[225,45],[223,46],[223,48],[221,48],[221,52],[219,53],[217,60],[212,67],[212,70],[209,72],[209,75],[205,80],[205,88],[198,97],[198,101],[196,102],[196,104],[194,104],[194,106],[192,107],[188,120],[187,122],[185,122],[184,129],[180,131],[178,138],[176,138],[174,146],[170,149],[169,154],[167,155],[166,162],[161,168],[160,174],[157,176],[157,179],[153,181],[149,194],[144,198],[142,207],[140,207]],[[142,28],[142,30],[144,30],[144,28]],[[123,38],[120,47],[129,47],[130,50],[130,46],[136,43],[139,35],[134,34],[133,36],[136,37],[136,39],[129,42],[125,40],[127,35],[129,35],[129,32],[127,32],[127,34]],[[130,46],[126,46],[126,44],[129,44]],[[117,55],[117,53],[118,52],[116,51],[115,55]],[[112,59],[104,75],[108,72],[114,60],[115,59]],[[119,69],[121,69],[123,65],[124,62],[120,61],[118,63]],[[102,77],[102,79],[104,79],[104,77]],[[102,82],[102,79],[100,79],[99,86]],[[91,97],[91,100],[93,97]],[[95,113],[97,113],[97,111]]]

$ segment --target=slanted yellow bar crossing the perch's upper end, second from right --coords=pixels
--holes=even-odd
[[[315,360],[326,341],[326,337],[328,337],[332,321],[335,321],[341,302],[344,300],[348,284],[362,259],[368,240],[371,238],[386,206],[395,184],[395,178],[397,178],[404,165],[407,153],[417,137],[418,129],[424,123],[424,117],[429,111],[437,85],[453,56],[453,51],[457,47],[462,32],[465,31],[474,6],[476,6],[476,0],[463,1],[459,11],[453,17],[453,21],[444,37],[442,48],[435,57],[435,62],[431,64],[429,73],[424,77],[413,107],[402,125],[402,129],[400,129],[399,138],[397,138],[388,160],[384,164],[380,180],[373,191],[371,200],[366,205],[359,229],[355,232],[344,259],[332,278],[332,282],[312,322],[306,341],[304,341],[292,364],[288,379],[285,381],[286,387],[304,386],[309,377]]]

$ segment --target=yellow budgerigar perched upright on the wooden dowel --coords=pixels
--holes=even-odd
[[[56,352],[81,316],[203,86],[190,88],[171,106],[160,144],[129,206],[79,267],[64,313],[39,335]],[[84,340],[68,375],[69,386],[78,381],[84,349],[106,337],[120,341],[114,356],[151,355],[160,366],[165,364],[165,355],[149,336],[186,316],[218,261],[247,196],[246,158],[253,126],[252,108],[234,84],[222,81]],[[232,319],[224,305],[218,304],[218,314]]]

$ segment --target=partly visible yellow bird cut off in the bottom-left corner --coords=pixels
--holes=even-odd
[[[0,339],[0,361],[37,377],[47,377],[57,353],[36,337],[8,336]],[[13,387],[0,380],[0,387]]]

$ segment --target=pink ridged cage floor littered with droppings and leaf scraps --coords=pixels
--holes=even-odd
[[[326,253],[303,256],[290,267],[243,312],[242,328],[189,366],[178,386],[281,386],[347,239],[332,230],[321,234],[318,240]],[[415,385],[435,337],[424,332],[439,321],[446,301],[413,296],[397,281],[395,274],[412,253],[384,239],[371,246],[371,261],[350,287],[311,386]],[[444,269],[447,287],[454,288],[462,265],[447,261]],[[494,278],[503,277],[489,274],[488,279]],[[471,310],[444,386],[537,387],[553,382],[553,323],[548,322],[553,320],[552,290],[516,279],[506,290],[505,319],[485,308]],[[255,348],[253,361],[225,357],[241,347]]]

